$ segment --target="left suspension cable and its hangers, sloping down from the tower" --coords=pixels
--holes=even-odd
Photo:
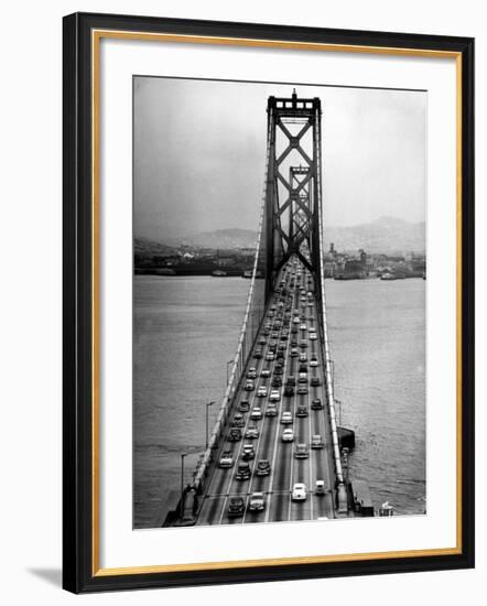
[[[256,255],[253,259],[252,273],[250,279],[249,293],[244,314],[244,321],[238,337],[237,350],[235,353],[231,372],[228,379],[228,386],[225,391],[221,404],[218,411],[218,416],[215,422],[212,435],[208,440],[206,448],[196,475],[194,477],[193,487],[196,491],[201,491],[207,477],[214,455],[218,450],[228,415],[234,405],[235,396],[238,391],[242,375],[246,370],[248,356],[252,350],[253,343],[259,333],[263,315],[266,313],[266,186],[269,170],[270,147],[268,137],[268,149],[266,158],[266,178],[262,193],[262,203],[259,217],[259,229],[256,242]]]

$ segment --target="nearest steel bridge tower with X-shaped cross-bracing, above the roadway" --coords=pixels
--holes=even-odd
[[[266,183],[267,297],[292,255],[320,286],[321,100],[269,97]]]

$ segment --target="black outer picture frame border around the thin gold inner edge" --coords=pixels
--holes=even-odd
[[[461,550],[447,555],[295,563],[221,570],[100,574],[94,564],[93,506],[93,36],[94,30],[296,41],[334,45],[444,51],[462,65],[461,250]],[[75,13],[63,23],[63,586],[74,593],[268,582],[466,569],[474,566],[474,40]]]

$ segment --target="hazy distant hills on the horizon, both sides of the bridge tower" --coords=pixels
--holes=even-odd
[[[425,250],[425,224],[409,223],[396,217],[379,219],[351,227],[325,226],[325,248],[334,242],[338,251],[356,251],[362,248],[366,252],[422,252]],[[192,236],[176,238],[169,242],[172,246],[155,242],[148,238],[136,238],[136,252],[145,255],[172,255],[181,245],[194,248],[253,248],[257,232],[251,229],[217,229]]]

